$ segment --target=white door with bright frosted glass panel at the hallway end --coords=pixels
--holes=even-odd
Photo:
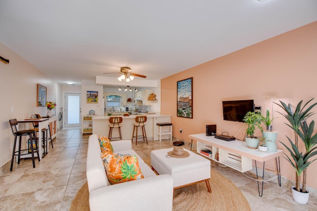
[[[65,127],[80,127],[80,93],[65,93]]]

